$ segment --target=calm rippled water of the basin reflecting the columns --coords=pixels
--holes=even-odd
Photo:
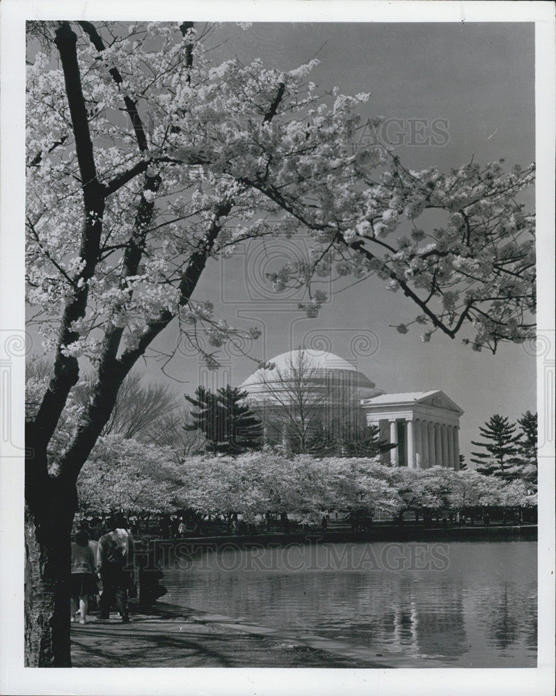
[[[447,667],[537,665],[534,541],[203,551],[166,567],[163,583],[170,603],[370,655]]]

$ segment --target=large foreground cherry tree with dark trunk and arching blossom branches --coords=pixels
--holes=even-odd
[[[54,370],[26,421],[28,665],[70,665],[76,482],[127,374],[170,322],[212,366],[224,342],[257,337],[196,296],[209,260],[301,230],[315,250],[271,278],[276,290],[310,289],[334,267],[402,290],[425,341],[467,327],[473,347],[494,350],[532,332],[533,218],[518,202],[532,166],[410,171],[356,144],[368,94],[321,93],[309,79],[316,61],[215,65],[210,31],[30,24],[26,288]],[[443,221],[427,226],[429,213]],[[392,242],[404,218],[411,230]],[[315,315],[324,295],[310,293],[304,309]],[[87,362],[90,398],[76,404]],[[69,429],[53,449],[61,423]]]

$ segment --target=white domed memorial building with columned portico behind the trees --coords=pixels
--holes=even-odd
[[[326,351],[298,349],[269,362],[272,370],[257,370],[240,388],[263,421],[282,413],[275,422],[283,423],[283,434],[295,419],[310,420],[316,411],[325,420],[348,416],[375,425],[382,440],[396,445],[382,455],[393,466],[459,469],[463,411],[442,391],[386,394],[354,365]]]

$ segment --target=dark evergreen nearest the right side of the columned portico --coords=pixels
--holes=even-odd
[[[486,442],[471,441],[472,445],[486,450],[471,452],[475,457],[471,457],[471,461],[480,465],[477,466],[477,471],[487,476],[517,477],[517,443],[521,435],[516,435],[516,423],[510,423],[506,416],[495,413],[484,425],[485,427],[479,427],[479,432],[486,438]]]

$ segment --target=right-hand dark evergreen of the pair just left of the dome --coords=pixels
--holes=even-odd
[[[229,384],[218,390],[218,404],[223,411],[223,441],[217,451],[241,454],[262,447],[262,422],[245,403],[248,393]]]

